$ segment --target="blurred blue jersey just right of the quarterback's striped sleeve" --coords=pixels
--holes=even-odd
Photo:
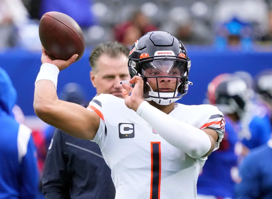
[[[238,142],[235,124],[225,116],[225,135],[218,150],[208,156],[197,180],[197,194],[216,197],[234,196],[234,176],[238,155],[235,147]],[[237,170],[237,169],[236,169]]]

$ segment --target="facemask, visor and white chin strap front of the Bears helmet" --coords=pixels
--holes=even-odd
[[[190,61],[177,57],[154,56],[138,62],[131,60],[129,66],[132,77],[143,77],[143,99],[147,101],[168,105],[187,94]]]

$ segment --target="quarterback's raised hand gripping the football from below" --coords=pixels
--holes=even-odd
[[[69,60],[51,60],[51,58],[48,56],[47,52],[45,51],[44,47],[42,46],[42,56],[41,56],[41,62],[44,63],[50,63],[54,64],[58,67],[58,69],[61,71],[63,69],[66,69],[68,66],[70,66],[72,63],[76,61],[76,58],[78,57],[78,54],[74,54],[72,57],[70,57]]]

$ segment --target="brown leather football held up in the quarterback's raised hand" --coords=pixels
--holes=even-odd
[[[78,61],[84,53],[85,40],[81,27],[67,14],[51,11],[42,15],[39,37],[52,60],[68,60],[78,54]]]

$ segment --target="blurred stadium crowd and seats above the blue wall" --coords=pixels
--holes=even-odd
[[[231,44],[249,49],[271,43],[271,0],[2,0],[0,48],[39,49],[38,25],[48,11],[74,18],[84,30],[86,46],[118,40],[126,45],[150,30],[169,31],[185,44]]]

